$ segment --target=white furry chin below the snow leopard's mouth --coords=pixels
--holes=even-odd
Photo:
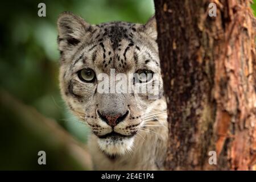
[[[130,151],[133,147],[134,137],[122,138],[122,140],[114,141],[112,139],[97,140],[98,146],[108,155],[123,155]]]

